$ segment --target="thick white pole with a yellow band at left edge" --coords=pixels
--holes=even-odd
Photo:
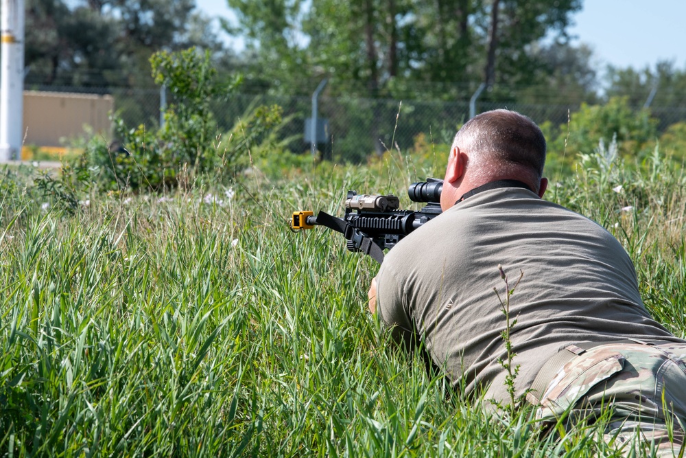
[[[24,112],[24,0],[2,0],[0,162],[21,159]]]

